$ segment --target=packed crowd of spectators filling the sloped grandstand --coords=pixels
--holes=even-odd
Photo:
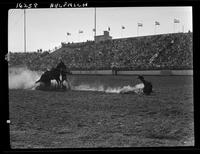
[[[192,33],[162,34],[94,43],[62,43],[59,56],[49,52],[11,53],[10,66],[26,65],[32,70],[55,67],[62,57],[72,70],[192,69]],[[62,51],[62,52],[61,52]]]

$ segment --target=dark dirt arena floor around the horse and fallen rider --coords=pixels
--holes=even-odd
[[[11,148],[194,145],[193,77],[145,76],[150,96],[9,90]],[[72,75],[73,86],[134,85],[136,76]]]

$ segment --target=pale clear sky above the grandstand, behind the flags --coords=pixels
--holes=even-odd
[[[94,15],[94,8],[26,9],[26,51],[53,50],[61,42],[94,40]],[[180,22],[174,24],[174,19]],[[160,25],[155,26],[155,21]],[[138,23],[143,26],[138,27]],[[192,7],[96,8],[96,35],[103,35],[108,27],[113,39],[188,32],[192,31]],[[8,12],[8,50],[25,51],[23,9]]]

